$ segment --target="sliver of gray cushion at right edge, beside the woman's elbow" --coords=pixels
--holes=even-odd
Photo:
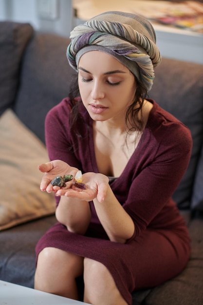
[[[203,211],[203,148],[197,166],[191,208],[192,210]]]

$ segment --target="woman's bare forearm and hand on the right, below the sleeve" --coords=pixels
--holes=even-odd
[[[109,239],[113,242],[125,243],[134,233],[134,223],[113,194],[108,177],[100,173],[88,172],[83,174],[83,182],[86,184],[86,190],[60,189],[56,192],[57,195],[67,199],[63,199],[64,215],[61,213],[62,217],[66,217],[65,203],[68,200],[70,202],[75,200],[76,207],[85,204],[85,201],[93,200],[97,216]],[[83,209],[85,209],[84,206]],[[77,208],[73,212],[77,212]]]

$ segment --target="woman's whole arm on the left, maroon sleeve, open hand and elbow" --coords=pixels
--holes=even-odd
[[[41,189],[44,191],[58,191],[59,187],[53,187],[50,182],[57,175],[73,174],[82,170],[78,156],[75,156],[70,148],[75,144],[76,139],[74,134],[70,133],[69,116],[71,107],[69,99],[62,100],[58,105],[52,108],[46,116],[45,120],[45,135],[46,147],[49,153],[51,162],[47,163],[50,168],[40,170],[47,172],[44,175]],[[60,159],[64,161],[56,161]],[[68,164],[72,165],[72,168]],[[64,166],[64,168],[63,168]],[[61,168],[62,167],[62,168]],[[74,168],[73,168],[74,167]],[[55,169],[54,169],[55,168]],[[52,172],[51,172],[52,171]],[[47,175],[53,173],[46,180]],[[71,186],[72,182],[66,183],[67,187]],[[91,219],[91,211],[87,201],[76,200],[64,196],[56,197],[56,219],[67,227],[68,230],[79,234],[84,234]]]

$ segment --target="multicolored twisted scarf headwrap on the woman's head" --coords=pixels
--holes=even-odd
[[[80,57],[100,50],[124,64],[149,91],[153,84],[154,67],[161,62],[156,35],[151,23],[138,15],[106,12],[71,32],[67,48],[70,65],[77,71]]]

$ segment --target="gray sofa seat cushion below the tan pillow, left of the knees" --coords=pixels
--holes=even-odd
[[[55,215],[52,215],[0,232],[0,245],[3,245],[0,247],[0,280],[34,287],[35,246],[55,222]],[[32,301],[29,300],[28,304]]]

